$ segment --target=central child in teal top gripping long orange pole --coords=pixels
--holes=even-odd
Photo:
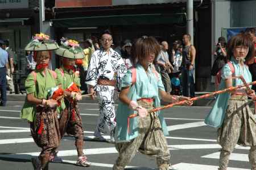
[[[164,91],[160,75],[152,65],[159,52],[160,45],[155,38],[143,36],[135,43],[133,56],[138,62],[123,77],[122,90],[119,94],[115,127],[115,147],[119,156],[114,164],[114,170],[123,170],[138,150],[156,157],[160,170],[167,170],[170,167],[170,151],[164,137],[168,135],[166,122],[160,111],[147,111],[160,106],[159,95],[167,102],[189,98],[171,96]],[[192,102],[187,101],[187,104],[191,105]],[[131,119],[127,125],[127,118],[134,112],[137,112],[139,117]]]

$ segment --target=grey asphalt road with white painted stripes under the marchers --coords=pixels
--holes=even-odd
[[[0,170],[32,169],[31,156],[39,155],[40,148],[30,136],[28,123],[19,118],[23,102],[9,102],[0,107]],[[61,140],[59,156],[65,163],[51,163],[49,169],[112,169],[117,159],[114,144],[96,142],[93,132],[98,118],[96,103],[80,103],[85,129],[84,153],[92,166],[77,167],[75,140],[65,136]],[[217,130],[204,125],[210,107],[175,107],[164,110],[170,131],[167,137],[171,151],[171,164],[182,170],[213,170],[218,167],[220,146],[216,142]],[[250,169],[247,158],[249,148],[237,146],[230,157],[229,170]],[[138,154],[126,169],[155,169],[154,157]]]

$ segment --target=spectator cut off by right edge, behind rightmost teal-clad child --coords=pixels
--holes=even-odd
[[[246,28],[245,34],[247,36],[250,36],[250,39],[254,43],[254,47],[256,49],[255,28]],[[255,51],[254,58],[252,58],[250,61],[248,61],[247,64],[249,65],[249,71],[251,72],[253,81],[255,81],[256,80],[256,51]],[[256,91],[256,85],[253,85],[253,87],[251,89]]]

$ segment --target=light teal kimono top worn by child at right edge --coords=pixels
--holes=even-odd
[[[232,76],[239,77],[242,75],[243,78],[245,78],[246,82],[252,81],[251,73],[247,65],[244,65],[244,67],[240,67],[238,61],[234,59],[234,57],[231,58],[230,62],[233,64],[234,67],[234,75],[232,75],[232,71],[229,65],[225,64],[221,71],[221,83],[219,86],[219,90],[223,90],[226,88],[225,79],[231,78]],[[241,84],[243,84],[243,82],[240,78],[233,79],[233,86],[238,86]],[[205,118],[205,124],[216,128],[221,127],[225,118],[226,109],[228,108],[229,98],[230,93],[222,93],[218,95],[214,106]]]

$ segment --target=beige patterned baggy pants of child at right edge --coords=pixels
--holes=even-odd
[[[228,109],[222,127],[218,130],[218,142],[222,149],[220,153],[220,170],[226,170],[229,156],[236,147],[250,146],[249,161],[251,169],[256,170],[256,122],[247,100],[230,98]]]

